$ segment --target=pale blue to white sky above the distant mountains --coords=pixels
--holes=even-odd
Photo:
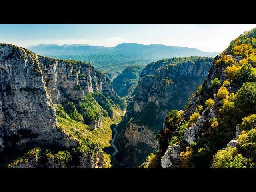
[[[254,27],[256,24],[0,24],[0,42],[24,48],[41,43],[112,47],[126,42],[222,52]]]

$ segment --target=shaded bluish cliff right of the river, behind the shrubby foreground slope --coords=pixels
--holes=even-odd
[[[147,149],[156,148],[155,137],[167,112],[183,109],[191,92],[206,78],[212,61],[212,58],[190,57],[148,64],[140,74],[135,95],[127,107],[126,118],[130,121],[125,129],[123,145],[133,146],[135,150],[138,143],[146,144]],[[140,158],[146,159],[147,155]],[[126,151],[123,163],[128,158],[130,154]]]

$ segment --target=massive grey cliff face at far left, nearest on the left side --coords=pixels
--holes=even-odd
[[[0,136],[4,146],[78,145],[56,126],[56,112],[37,56],[0,44]]]

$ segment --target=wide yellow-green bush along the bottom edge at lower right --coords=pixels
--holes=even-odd
[[[251,166],[252,159],[238,154],[236,147],[228,147],[224,150],[219,150],[216,155],[213,156],[212,167],[214,168],[246,168]]]

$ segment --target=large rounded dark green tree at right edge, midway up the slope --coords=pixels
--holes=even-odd
[[[246,114],[256,111],[256,83],[246,82],[236,93],[235,105],[246,112]]]

